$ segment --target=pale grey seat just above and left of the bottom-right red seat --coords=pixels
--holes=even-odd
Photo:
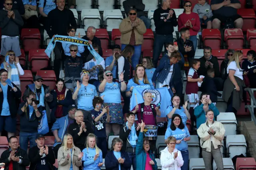
[[[227,157],[233,158],[236,155],[246,156],[247,144],[243,134],[226,136]]]

